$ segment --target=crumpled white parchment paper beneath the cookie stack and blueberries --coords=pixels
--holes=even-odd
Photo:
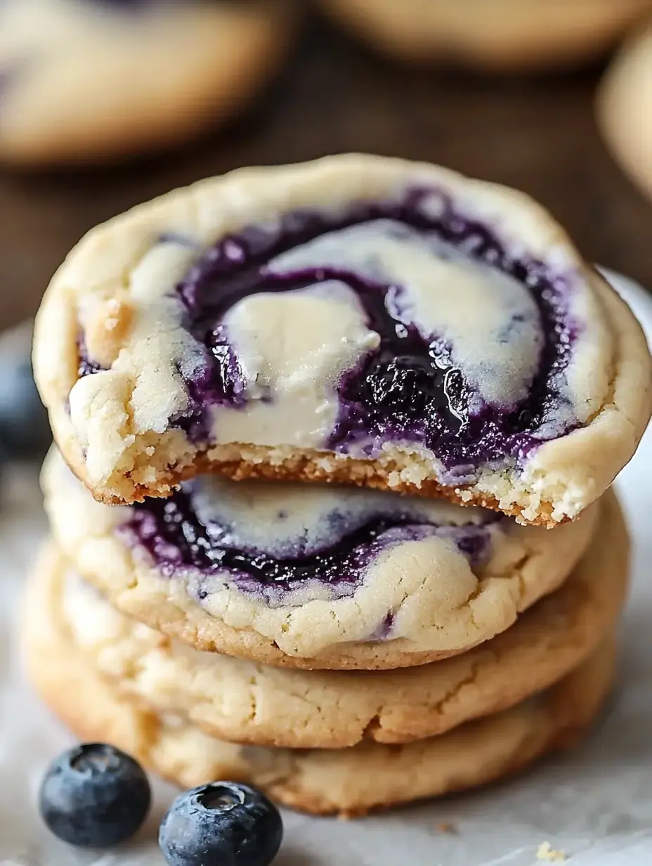
[[[612,281],[650,339],[652,299],[629,281]],[[20,673],[20,591],[46,526],[36,473],[15,475],[0,505],[0,864],[163,866],[156,831],[174,795],[169,785],[155,783],[155,807],[138,840],[110,854],[68,848],[37,816],[43,769],[72,740]],[[277,866],[536,866],[545,841],[572,866],[652,866],[652,430],[617,487],[636,540],[635,580],[616,694],[586,744],[502,785],[374,818],[285,812]]]

